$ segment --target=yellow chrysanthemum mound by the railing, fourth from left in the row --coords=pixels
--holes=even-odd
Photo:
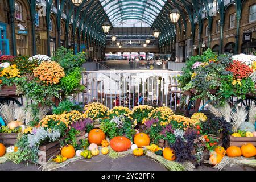
[[[158,107],[150,112],[148,115],[149,118],[158,118],[159,122],[162,122],[162,124],[166,124],[171,121],[172,115],[174,112],[170,109],[170,107]]]

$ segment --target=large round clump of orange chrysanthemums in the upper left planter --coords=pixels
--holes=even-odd
[[[64,69],[54,61],[45,61],[34,69],[34,76],[46,85],[58,84],[65,76]]]

